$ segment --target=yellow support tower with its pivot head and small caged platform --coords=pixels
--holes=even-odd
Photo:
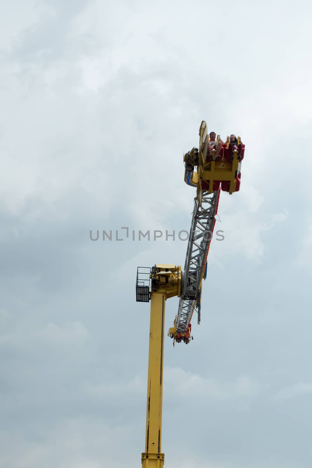
[[[143,468],[163,468],[162,413],[163,413],[163,346],[165,301],[181,295],[181,266],[157,264],[151,269],[150,325],[149,325],[149,372],[146,409],[145,452],[142,453]],[[138,289],[137,300],[143,286]],[[138,295],[139,294],[139,295]]]

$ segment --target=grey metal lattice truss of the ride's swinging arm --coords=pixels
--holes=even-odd
[[[198,309],[198,323],[200,322],[201,282],[213,235],[219,197],[220,190],[211,195],[203,192],[201,203],[195,198],[176,320],[178,333],[186,332],[195,307]]]

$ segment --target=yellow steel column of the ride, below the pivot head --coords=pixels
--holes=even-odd
[[[149,373],[146,410],[145,453],[143,468],[162,468],[161,453],[163,411],[163,347],[165,322],[165,292],[151,292],[149,325]]]

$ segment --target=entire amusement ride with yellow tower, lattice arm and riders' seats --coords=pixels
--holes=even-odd
[[[210,135],[213,132],[210,132]],[[207,124],[199,128],[199,148],[184,154],[184,182],[197,189],[184,270],[172,264],[138,267],[136,301],[150,301],[149,368],[143,468],[162,468],[163,344],[165,301],[179,297],[177,315],[168,336],[175,343],[189,344],[191,319],[197,312],[200,323],[202,282],[207,275],[207,256],[218,212],[220,191],[230,195],[240,190],[241,161],[245,145],[240,137],[226,143],[210,139]],[[214,135],[214,134],[213,134]],[[234,136],[234,135],[233,135]]]

